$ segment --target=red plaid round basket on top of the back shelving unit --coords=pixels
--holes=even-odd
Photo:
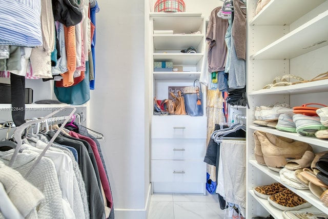
[[[182,0],[157,0],[155,12],[185,12],[186,5]]]

